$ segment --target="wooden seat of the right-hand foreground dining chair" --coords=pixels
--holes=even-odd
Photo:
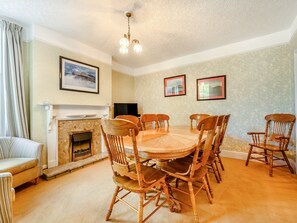
[[[190,173],[187,172],[192,162],[193,159],[190,157],[177,159],[172,162],[169,162],[166,166],[162,167],[162,170],[167,172],[169,175],[178,177],[181,180],[194,182],[204,177],[207,174],[208,168],[207,166],[203,166],[195,171],[193,177],[190,177]],[[187,174],[183,175],[183,173]]]

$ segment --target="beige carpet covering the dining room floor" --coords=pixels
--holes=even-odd
[[[274,170],[268,176],[264,164],[224,159],[223,181],[211,176],[214,203],[205,192],[197,197],[200,222],[297,222],[297,176],[288,169]],[[16,191],[16,223],[101,223],[114,191],[109,160],[78,169],[38,185],[27,184]],[[136,197],[132,198],[137,200]],[[136,222],[137,215],[127,206],[115,205],[110,222]],[[162,207],[147,222],[193,222],[192,210],[181,213]]]

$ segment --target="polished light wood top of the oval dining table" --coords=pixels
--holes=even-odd
[[[198,140],[198,130],[189,126],[170,126],[140,131],[136,137],[139,156],[151,159],[181,158],[191,154]],[[128,152],[132,152],[129,137],[124,139]]]

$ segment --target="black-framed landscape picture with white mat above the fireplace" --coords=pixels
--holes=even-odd
[[[99,94],[99,67],[60,56],[60,90]]]

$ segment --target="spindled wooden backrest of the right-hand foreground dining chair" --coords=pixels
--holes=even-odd
[[[198,170],[199,168],[207,164],[207,160],[213,146],[217,121],[218,121],[218,116],[209,116],[207,118],[202,119],[197,125],[197,129],[199,131],[198,142],[193,156],[193,163],[191,167],[190,177],[193,177],[195,175],[196,170]],[[199,151],[202,148],[203,148],[203,153],[198,161]]]

